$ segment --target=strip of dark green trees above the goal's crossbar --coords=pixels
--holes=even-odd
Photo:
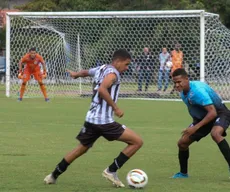
[[[33,0],[17,8],[23,11],[122,11],[205,9],[220,14],[230,28],[230,0]]]

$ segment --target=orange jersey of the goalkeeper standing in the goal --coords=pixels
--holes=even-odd
[[[22,57],[21,63],[26,64],[24,70],[29,70],[30,72],[35,72],[35,71],[40,71],[39,64],[44,63],[44,59],[38,53],[35,55],[35,58],[32,59],[30,57],[30,54],[27,53]]]

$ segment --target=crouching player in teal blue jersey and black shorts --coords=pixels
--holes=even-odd
[[[230,124],[229,109],[209,85],[200,81],[189,81],[184,69],[176,69],[172,74],[172,80],[193,119],[178,141],[180,172],[172,178],[188,177],[189,146],[209,133],[230,167],[230,148],[224,139]]]

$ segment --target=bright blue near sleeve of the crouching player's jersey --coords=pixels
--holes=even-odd
[[[205,89],[195,90],[191,97],[192,104],[207,106],[212,105],[213,101]]]

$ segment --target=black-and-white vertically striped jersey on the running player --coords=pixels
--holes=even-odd
[[[100,67],[92,68],[89,70],[89,75],[93,76],[93,96],[90,109],[86,114],[86,121],[93,124],[107,124],[114,122],[113,109],[103,100],[98,93],[98,88],[102,83],[104,77],[109,73],[115,73],[117,76],[116,81],[108,89],[108,92],[116,103],[119,89],[120,89],[120,73],[112,65],[102,65]]]

